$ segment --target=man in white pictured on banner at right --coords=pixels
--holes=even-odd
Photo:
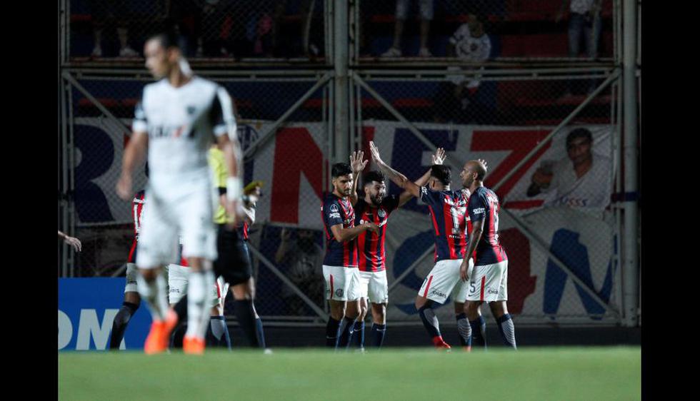
[[[527,188],[527,196],[546,193],[544,205],[604,209],[612,193],[610,158],[594,153],[593,135],[575,128],[566,136],[569,157],[538,168]]]

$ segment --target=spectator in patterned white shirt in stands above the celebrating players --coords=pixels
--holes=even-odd
[[[489,59],[491,39],[484,31],[484,16],[469,14],[465,24],[459,26],[449,39],[447,54],[462,61],[479,63]],[[475,67],[476,68],[476,67]],[[449,81],[442,82],[434,98],[434,119],[436,122],[452,121],[469,123],[480,121],[486,114],[476,99],[479,78],[467,79],[461,68],[451,66]],[[482,66],[483,70],[484,67]]]

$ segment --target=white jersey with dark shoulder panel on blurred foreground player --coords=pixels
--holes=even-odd
[[[179,88],[167,79],[146,85],[133,129],[149,135],[149,186],[164,193],[209,182],[207,151],[214,136],[236,132],[236,120],[226,89],[194,76]]]

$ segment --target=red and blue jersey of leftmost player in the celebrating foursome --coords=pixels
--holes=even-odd
[[[339,243],[331,227],[342,224],[343,228],[355,226],[355,210],[349,198],[338,198],[329,193],[321,204],[321,220],[326,230],[326,257],[324,265],[357,267],[357,241],[352,239]]]

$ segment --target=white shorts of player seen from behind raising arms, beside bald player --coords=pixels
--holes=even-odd
[[[445,259],[435,263],[433,270],[426,275],[423,280],[418,295],[436,303],[445,303],[451,295],[454,302],[464,303],[469,285],[459,277],[459,266],[461,259]],[[469,258],[469,265],[466,268],[466,275],[471,277],[474,269],[474,259]]]

